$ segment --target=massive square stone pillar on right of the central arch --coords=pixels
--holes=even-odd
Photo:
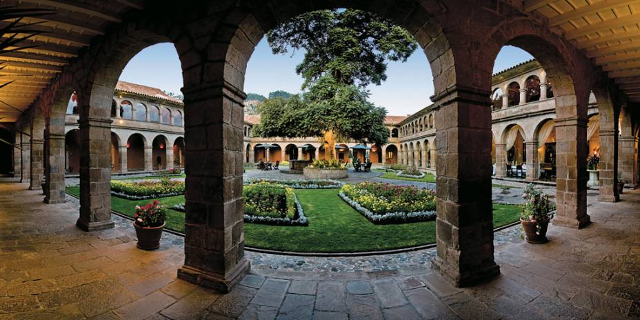
[[[439,159],[437,257],[432,268],[455,286],[500,274],[493,255],[489,97],[490,92],[474,88],[456,88],[432,97],[438,105]]]

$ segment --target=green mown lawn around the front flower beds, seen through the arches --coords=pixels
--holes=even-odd
[[[79,188],[67,188],[79,194]],[[359,252],[406,248],[435,242],[435,221],[375,225],[338,197],[337,189],[296,190],[309,219],[307,227],[269,226],[245,223],[245,243],[254,248],[297,252]],[[168,208],[183,196],[158,199]],[[136,205],[152,200],[131,201],[111,197],[112,209],[132,217]],[[518,206],[494,204],[494,227],[518,221]],[[167,228],[184,232],[184,213],[167,210]]]

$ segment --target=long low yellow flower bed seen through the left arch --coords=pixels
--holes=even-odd
[[[111,181],[111,194],[129,200],[157,199],[184,194],[184,181]]]

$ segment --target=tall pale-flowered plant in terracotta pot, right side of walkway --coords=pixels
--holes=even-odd
[[[529,183],[522,197],[526,202],[520,206],[520,222],[528,243],[547,242],[547,228],[553,218],[554,204],[548,194]]]

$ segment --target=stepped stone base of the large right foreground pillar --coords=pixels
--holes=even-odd
[[[500,275],[500,266],[495,262],[488,266],[473,268],[472,271],[461,274],[457,268],[452,268],[440,257],[435,257],[431,261],[431,268],[438,270],[444,279],[458,288],[487,282]]]

